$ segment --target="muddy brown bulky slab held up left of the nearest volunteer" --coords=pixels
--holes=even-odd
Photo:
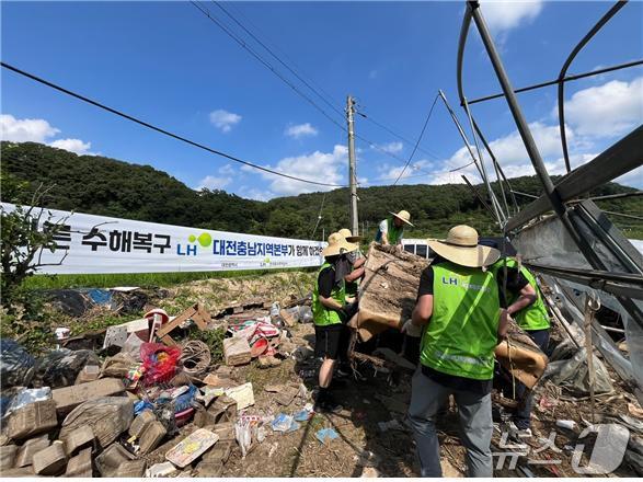
[[[371,243],[360,284],[359,313],[352,320],[363,342],[411,318],[422,271],[429,261],[394,246]]]

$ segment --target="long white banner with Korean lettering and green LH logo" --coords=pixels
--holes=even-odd
[[[2,209],[15,206],[2,203]],[[39,209],[39,208],[37,208]],[[50,216],[49,216],[50,215]],[[164,273],[320,266],[325,242],[211,231],[44,209],[41,229],[64,221],[44,274]],[[62,263],[56,265],[57,263]]]

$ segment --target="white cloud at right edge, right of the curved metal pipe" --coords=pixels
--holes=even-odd
[[[582,136],[627,134],[643,123],[643,77],[631,82],[612,80],[576,92],[565,102],[565,122]]]

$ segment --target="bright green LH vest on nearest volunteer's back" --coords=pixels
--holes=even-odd
[[[420,362],[443,374],[491,380],[501,312],[493,274],[453,263],[434,265],[433,274],[433,314]]]

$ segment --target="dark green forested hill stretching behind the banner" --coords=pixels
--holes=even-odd
[[[322,228],[329,232],[348,226],[348,190],[280,197],[267,203],[244,199],[223,191],[196,192],[182,182],[149,165],[100,156],[77,156],[48,146],[24,142],[2,142],[2,190],[4,202],[28,204],[31,193],[41,185],[50,187],[42,203],[54,209],[76,210],[127,219],[218,229],[288,238],[311,237],[320,207]],[[14,181],[25,181],[22,191],[12,188]],[[510,180],[515,191],[540,195],[540,183],[535,176]],[[484,196],[484,186],[476,186]],[[595,194],[616,194],[635,191],[610,183]],[[469,223],[481,233],[494,232],[491,216],[473,193],[461,184],[402,185],[360,188],[359,220],[372,237],[377,223],[391,210],[407,209],[415,229],[407,238],[443,237],[456,223]],[[530,199],[518,196],[523,205]],[[643,199],[601,202],[606,210],[635,214],[643,211]],[[624,218],[627,219],[627,218]],[[625,234],[640,238],[643,223],[615,218]]]

